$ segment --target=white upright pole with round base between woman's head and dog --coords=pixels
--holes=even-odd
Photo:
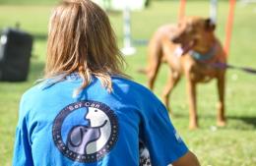
[[[133,55],[136,52],[136,48],[132,46],[132,35],[131,35],[131,13],[128,4],[123,9],[123,33],[124,47],[121,49],[124,55]]]

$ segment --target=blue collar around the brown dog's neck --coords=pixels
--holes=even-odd
[[[215,44],[206,54],[201,54],[193,50],[189,54],[197,61],[208,61],[216,55],[216,48],[217,45]]]

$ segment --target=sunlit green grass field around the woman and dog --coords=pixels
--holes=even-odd
[[[19,100],[22,93],[36,79],[42,76],[47,22],[52,6],[50,0],[29,5],[31,1],[0,0],[0,29],[13,27],[17,22],[21,28],[34,35],[31,72],[26,83],[0,83],[0,165],[12,163],[13,140],[18,119]],[[17,2],[17,1],[16,1]],[[22,3],[23,2],[23,3]],[[47,5],[41,5],[47,4]],[[217,35],[224,40],[224,24],[228,4],[219,4]],[[132,33],[135,39],[149,39],[160,25],[175,22],[178,3],[176,1],[153,1],[149,9],[132,14]],[[207,17],[208,1],[189,1],[187,15]],[[122,46],[122,15],[110,14],[113,28]],[[229,63],[237,66],[256,68],[256,5],[241,6],[237,3]],[[134,56],[126,57],[126,73],[139,83],[146,84],[146,77],[136,72],[146,66],[146,46],[138,46]],[[167,74],[162,66],[155,92],[160,96]],[[228,71],[226,88],[225,128],[216,125],[216,83],[200,84],[198,88],[198,112],[201,128],[189,131],[188,106],[184,80],[177,85],[171,95],[171,106],[175,117],[172,122],[188,146],[194,151],[202,166],[256,166],[256,76],[240,71]]]

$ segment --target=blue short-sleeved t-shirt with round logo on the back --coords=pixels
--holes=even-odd
[[[188,151],[165,107],[143,85],[112,77],[109,93],[94,77],[73,96],[81,84],[71,75],[23,95],[14,166],[138,166],[140,141],[153,166],[166,166]]]

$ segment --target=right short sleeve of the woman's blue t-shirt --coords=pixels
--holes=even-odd
[[[145,113],[141,138],[156,166],[166,166],[183,156],[188,148],[172,126],[167,110],[158,100],[155,108]]]

